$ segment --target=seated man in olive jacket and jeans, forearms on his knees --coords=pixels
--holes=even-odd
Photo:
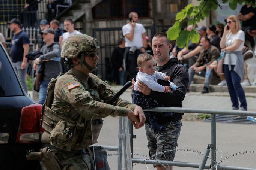
[[[191,84],[191,81],[193,81],[195,73],[205,77],[202,93],[209,92],[209,84],[212,79],[212,69],[208,68],[207,66],[220,56],[220,51],[217,47],[210,44],[210,39],[208,37],[202,37],[200,43],[203,50],[200,52],[196,63],[193,64],[188,70],[189,82],[187,92],[189,91],[189,85]]]

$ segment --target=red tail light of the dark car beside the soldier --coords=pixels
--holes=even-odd
[[[38,142],[44,129],[40,125],[42,113],[41,104],[31,104],[21,109],[20,126],[17,143]]]

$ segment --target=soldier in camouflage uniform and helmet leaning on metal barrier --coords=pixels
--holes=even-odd
[[[135,128],[142,127],[146,120],[142,108],[126,100],[118,98],[113,105],[107,104],[114,92],[90,73],[97,68],[98,49],[97,40],[86,34],[66,39],[61,57],[70,70],[52,79],[47,89],[42,143],[51,149],[63,170],[93,169],[93,160],[84,149],[97,142],[101,118],[127,116]]]

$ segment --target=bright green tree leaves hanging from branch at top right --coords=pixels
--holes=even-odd
[[[169,40],[176,40],[178,47],[182,48],[188,44],[189,40],[193,43],[199,42],[199,34],[193,29],[191,32],[187,30],[181,31],[181,24],[187,22],[188,25],[196,25],[197,22],[205,19],[210,15],[211,10],[216,10],[220,4],[219,0],[198,0],[201,1],[199,6],[194,6],[192,3],[188,4],[181,12],[176,15],[175,24],[167,31],[167,38]],[[253,4],[256,7],[256,0],[222,0],[222,3],[229,3],[229,7],[236,9],[237,4]],[[220,6],[221,7],[221,6]]]

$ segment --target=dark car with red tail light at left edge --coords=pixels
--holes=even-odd
[[[0,43],[0,170],[41,169],[39,160],[26,159],[27,151],[41,148],[41,113],[42,105],[24,92]]]

